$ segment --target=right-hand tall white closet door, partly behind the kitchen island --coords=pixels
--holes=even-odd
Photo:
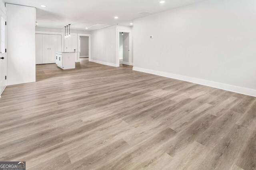
[[[56,62],[56,52],[61,52],[61,35],[50,35],[50,57],[49,63]]]

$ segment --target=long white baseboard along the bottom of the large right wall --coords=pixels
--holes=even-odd
[[[140,72],[146,72],[146,73],[150,73],[150,74],[155,74],[158,76],[163,76],[163,77],[168,77],[168,78],[174,78],[177,80],[183,80],[186,82],[192,82],[192,83],[201,84],[204,86],[210,86],[210,87],[219,88],[222,90],[227,90],[230,92],[235,92],[235,93],[240,93],[240,94],[245,94],[248,96],[256,97],[256,90],[254,90],[254,89],[233,86],[230,84],[212,82],[209,80],[203,80],[203,79],[194,78],[194,77],[182,76],[182,75],[172,74],[172,73],[168,73],[168,72],[150,70],[150,69],[146,69],[146,68],[133,67],[133,70],[140,71]]]

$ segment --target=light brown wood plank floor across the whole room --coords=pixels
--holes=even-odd
[[[0,99],[0,161],[28,170],[252,170],[256,98],[81,59]]]

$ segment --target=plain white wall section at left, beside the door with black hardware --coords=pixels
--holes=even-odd
[[[6,4],[7,84],[36,81],[35,8]]]

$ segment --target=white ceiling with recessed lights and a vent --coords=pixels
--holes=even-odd
[[[38,27],[94,30],[108,25],[130,25],[136,18],[186,6],[203,0],[4,0],[36,7]],[[45,5],[46,8],[41,7]],[[140,14],[141,12],[150,12]],[[118,19],[114,19],[118,16]],[[99,25],[100,24],[100,25]],[[85,29],[88,27],[88,29]]]

